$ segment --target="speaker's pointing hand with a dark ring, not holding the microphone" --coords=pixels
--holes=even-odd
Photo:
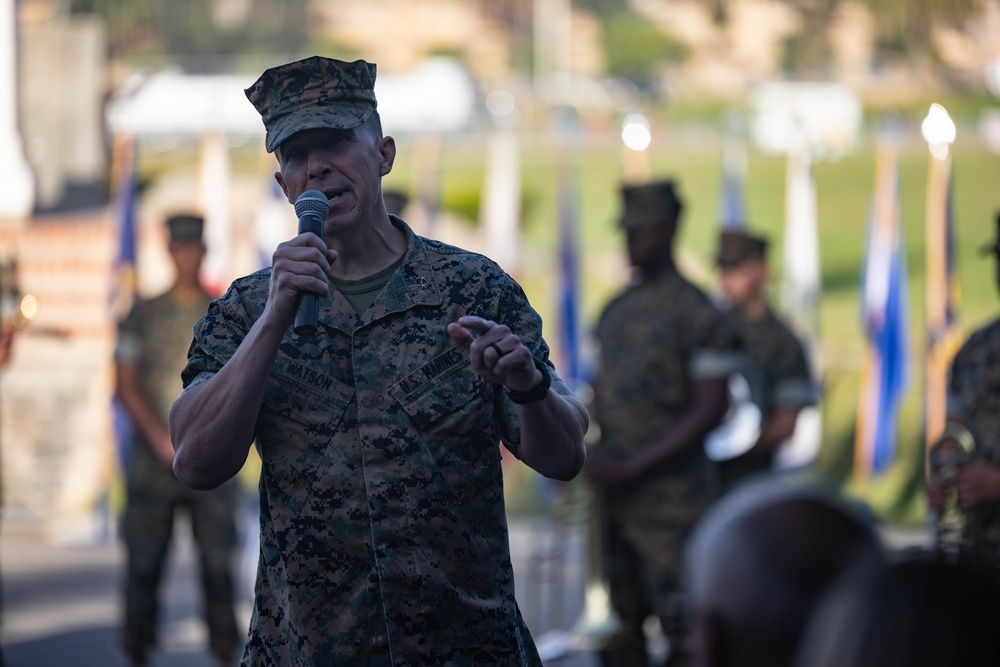
[[[512,391],[528,391],[542,381],[534,359],[506,325],[467,315],[448,325],[448,335],[469,353],[472,370]]]

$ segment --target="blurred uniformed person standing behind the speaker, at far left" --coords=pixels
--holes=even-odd
[[[115,348],[118,398],[134,424],[125,459],[127,550],[123,642],[132,667],[147,664],[156,645],[158,590],[174,530],[183,512],[198,546],[205,620],[212,654],[231,665],[242,639],[234,612],[233,556],[238,487],[192,491],[174,476],[168,433],[170,406],[181,393],[191,328],[212,297],[199,281],[205,244],[203,220],[167,220],[175,268],[165,293],[141,301],[119,325]]]

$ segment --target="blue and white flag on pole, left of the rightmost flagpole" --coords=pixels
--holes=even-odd
[[[899,407],[911,375],[906,253],[899,211],[895,148],[883,141],[861,274],[866,351],[855,434],[855,474],[885,472],[896,449]]]

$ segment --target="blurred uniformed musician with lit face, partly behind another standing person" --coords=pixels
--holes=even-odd
[[[802,344],[768,302],[767,239],[723,231],[715,260],[729,320],[742,343],[743,372],[761,412],[760,433],[749,451],[719,462],[728,489],[773,469],[774,452],[795,432],[799,412],[816,404],[818,392]]]

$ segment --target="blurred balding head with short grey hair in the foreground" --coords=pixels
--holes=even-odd
[[[885,565],[867,511],[822,486],[747,481],[698,524],[686,554],[699,667],[791,667],[813,609]]]

